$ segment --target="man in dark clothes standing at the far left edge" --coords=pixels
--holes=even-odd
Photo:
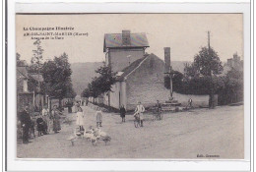
[[[32,125],[29,105],[25,106],[24,111],[21,113],[20,120],[23,128],[23,143],[29,143],[29,133]]]

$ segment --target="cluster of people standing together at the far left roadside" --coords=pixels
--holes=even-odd
[[[61,114],[62,113],[57,109],[57,105],[53,106],[53,110],[51,112],[47,106],[44,106],[40,115],[37,117],[35,116],[36,120],[34,121],[30,112],[29,105],[26,105],[19,116],[19,123],[22,127],[23,143],[30,143],[29,139],[32,134],[33,137],[35,137],[35,126],[36,130],[38,131],[38,137],[49,134],[51,129],[54,133],[58,133],[61,130]]]

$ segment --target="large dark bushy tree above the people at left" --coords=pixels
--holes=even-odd
[[[73,98],[76,93],[71,83],[71,68],[68,62],[68,55],[64,52],[53,61],[45,62],[42,66],[42,76],[45,82],[45,91],[54,98],[61,100],[64,97]]]

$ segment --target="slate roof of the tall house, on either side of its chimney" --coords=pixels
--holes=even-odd
[[[122,33],[106,33],[104,34],[104,47],[106,48],[123,48],[123,47],[149,47],[148,38],[146,33],[130,33],[131,45],[122,44]]]

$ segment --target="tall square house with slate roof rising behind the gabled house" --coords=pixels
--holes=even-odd
[[[116,73],[145,55],[149,42],[145,33],[106,33],[104,35],[103,52],[105,63]]]

